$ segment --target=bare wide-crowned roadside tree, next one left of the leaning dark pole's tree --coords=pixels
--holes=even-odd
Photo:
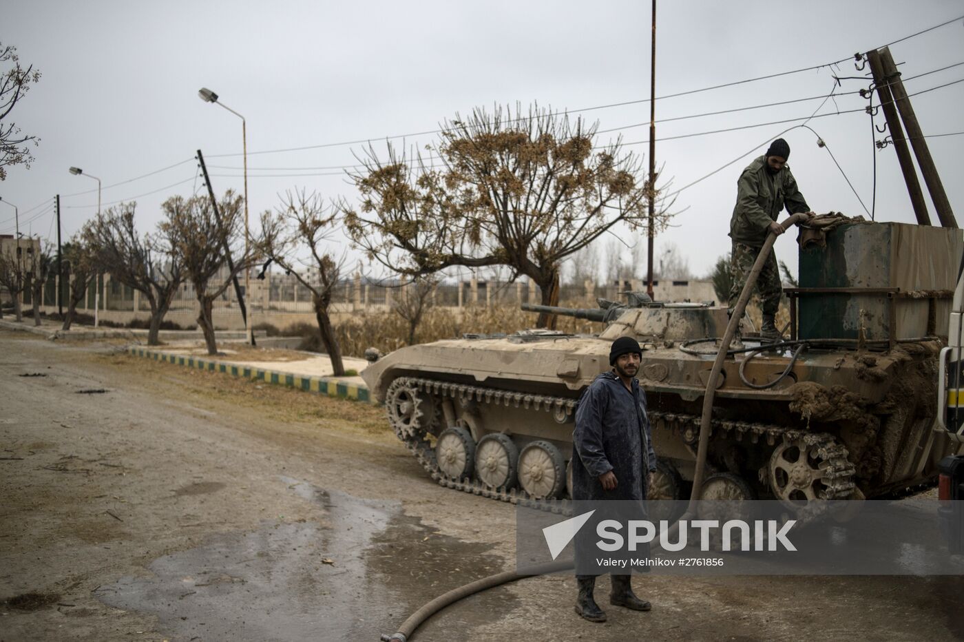
[[[168,233],[141,236],[134,227],[136,202],[120,203],[88,222],[80,233],[92,268],[137,290],[150,306],[147,345],[160,343],[158,334],[177,288],[184,282],[178,254]]]

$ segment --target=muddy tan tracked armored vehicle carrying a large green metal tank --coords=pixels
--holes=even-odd
[[[932,480],[955,449],[934,430],[959,229],[854,223],[800,249],[789,338],[731,350],[716,388],[704,498],[899,493]],[[726,309],[640,294],[598,308],[543,308],[597,321],[592,335],[527,330],[403,348],[362,377],[426,472],[444,486],[554,507],[569,491],[576,404],[609,369],[613,339],[644,346],[637,375],[653,425],[651,496],[694,474],[703,395]]]

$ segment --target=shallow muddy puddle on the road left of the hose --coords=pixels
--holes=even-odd
[[[263,522],[216,535],[154,560],[152,577],[123,577],[96,597],[156,614],[172,640],[377,640],[423,603],[502,570],[488,545],[439,534],[396,501],[281,481],[320,504],[324,523]],[[516,602],[498,589],[472,600],[479,622]],[[465,629],[464,615],[452,636]]]

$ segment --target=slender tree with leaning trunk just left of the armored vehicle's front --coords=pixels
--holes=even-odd
[[[263,251],[311,293],[314,318],[321,342],[332,360],[335,377],[345,374],[341,348],[329,315],[335,285],[343,267],[343,261],[335,259],[329,249],[338,212],[334,203],[326,205],[319,195],[295,190],[285,194],[274,213],[265,211],[261,214]],[[306,253],[307,259],[297,258]],[[299,271],[299,267],[308,270]]]

